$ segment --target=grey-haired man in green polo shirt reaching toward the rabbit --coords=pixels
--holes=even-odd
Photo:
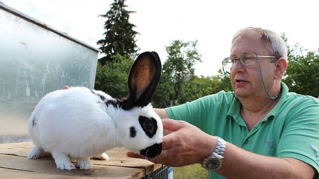
[[[201,163],[210,178],[318,178],[319,100],[288,92],[281,82],[286,59],[285,43],[274,32],[238,31],[223,61],[234,94],[155,109],[173,132],[163,138],[159,158],[149,160]]]

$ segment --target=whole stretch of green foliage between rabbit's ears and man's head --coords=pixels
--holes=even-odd
[[[197,41],[174,40],[166,48],[168,59],[153,98],[153,106],[164,108],[193,101],[227,89],[222,75],[196,76],[193,65],[202,62]]]

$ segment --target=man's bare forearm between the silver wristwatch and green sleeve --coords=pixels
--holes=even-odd
[[[227,143],[223,166],[218,173],[227,178],[309,178],[314,169],[297,159],[254,154]]]

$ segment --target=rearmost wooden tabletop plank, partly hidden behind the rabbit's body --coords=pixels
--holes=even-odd
[[[1,144],[0,154],[27,157],[32,146],[32,142]],[[114,148],[106,151],[107,155],[110,157],[110,160],[92,160],[92,162],[93,164],[98,165],[143,168],[145,170],[145,175],[150,174],[162,167],[162,164],[154,164],[148,160],[129,158],[126,156],[127,151],[128,150],[125,148]],[[44,159],[53,160],[51,157],[46,157]]]

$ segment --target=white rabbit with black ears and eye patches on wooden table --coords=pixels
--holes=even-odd
[[[28,131],[33,141],[28,158],[52,155],[58,169],[90,169],[90,157],[125,147],[153,158],[162,152],[163,125],[151,99],[161,77],[156,52],[140,54],[132,65],[126,99],[102,91],[70,87],[47,94],[32,112]]]

